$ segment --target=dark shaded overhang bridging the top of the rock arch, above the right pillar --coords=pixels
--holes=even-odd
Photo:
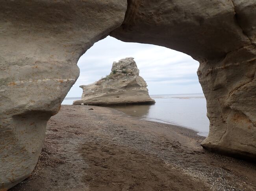
[[[249,30],[254,26],[254,13],[245,10],[253,12],[255,2],[237,2],[247,4],[241,11],[250,15],[244,23]],[[218,60],[251,44],[237,15],[231,0],[129,0],[124,22],[111,36],[125,42],[168,47],[198,61]]]

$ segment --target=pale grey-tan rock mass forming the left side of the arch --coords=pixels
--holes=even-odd
[[[45,127],[79,76],[76,63],[124,20],[126,0],[2,0],[0,190],[32,172]]]

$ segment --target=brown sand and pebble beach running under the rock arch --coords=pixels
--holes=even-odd
[[[63,105],[31,177],[10,190],[256,190],[255,164],[211,153],[203,139],[107,107]]]

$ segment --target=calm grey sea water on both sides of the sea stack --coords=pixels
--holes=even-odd
[[[154,105],[127,105],[111,108],[128,115],[137,116],[167,124],[175,124],[198,131],[198,135],[207,136],[209,120],[206,116],[206,99],[203,94],[150,95],[156,101]],[[80,98],[65,98],[62,104],[71,105]]]

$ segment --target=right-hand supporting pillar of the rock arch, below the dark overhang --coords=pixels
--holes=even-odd
[[[256,157],[256,49],[200,62],[198,78],[207,100],[210,133],[202,146],[231,156]]]

